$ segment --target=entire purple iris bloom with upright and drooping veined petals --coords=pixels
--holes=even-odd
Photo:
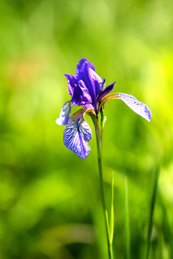
[[[67,101],[56,119],[58,125],[67,125],[64,130],[64,145],[85,159],[90,147],[88,141],[92,138],[91,128],[87,124],[84,115],[97,115],[102,105],[111,99],[122,99],[133,111],[150,121],[151,112],[146,104],[139,102],[134,96],[126,93],[113,93],[107,95],[114,89],[114,83],[105,88],[105,78],[100,78],[95,73],[94,65],[81,59],[76,66],[76,75],[65,74],[68,82],[68,93],[71,101]],[[71,117],[73,105],[82,105],[84,109],[75,112]]]

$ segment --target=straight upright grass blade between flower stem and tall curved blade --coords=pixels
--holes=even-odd
[[[128,185],[127,176],[124,179],[125,186],[125,202],[124,202],[124,241],[125,241],[125,259],[130,259],[130,219],[129,219],[129,203],[128,203]]]

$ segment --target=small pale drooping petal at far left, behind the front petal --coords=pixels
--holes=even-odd
[[[56,123],[58,125],[66,125],[68,119],[70,118],[70,113],[71,113],[71,109],[73,107],[73,104],[71,103],[71,101],[67,101],[65,102],[65,104],[63,105],[59,118],[56,119]]]

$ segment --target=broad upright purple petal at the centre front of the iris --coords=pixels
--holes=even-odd
[[[96,110],[96,96],[102,86],[101,78],[91,69],[87,62],[84,62],[78,73],[78,83],[84,97],[91,100],[94,110]]]

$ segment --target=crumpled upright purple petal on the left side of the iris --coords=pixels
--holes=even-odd
[[[84,93],[82,92],[82,89],[80,88],[77,80],[77,76],[71,75],[71,74],[65,74],[66,78],[68,79],[68,93],[72,96],[71,102],[74,105],[86,105],[90,102],[92,102],[92,99],[84,97]]]

